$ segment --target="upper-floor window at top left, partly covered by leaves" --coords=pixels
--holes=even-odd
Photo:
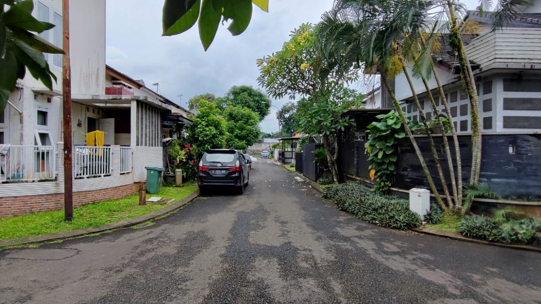
[[[50,8],[45,2],[36,1],[35,5],[36,19],[42,22],[49,22],[55,25],[51,30],[43,31],[38,36],[47,40],[48,42],[62,48],[62,15],[61,12],[55,11]],[[61,54],[47,54],[43,53],[45,60],[52,66],[62,67],[62,55]]]

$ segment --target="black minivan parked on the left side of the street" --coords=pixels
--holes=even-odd
[[[250,171],[246,159],[241,152],[232,149],[212,149],[204,152],[199,161],[197,186],[204,193],[209,186],[234,186],[237,191],[244,193],[248,185]]]

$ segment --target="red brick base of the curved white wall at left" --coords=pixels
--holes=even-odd
[[[136,184],[107,189],[73,193],[74,207],[91,202],[120,199],[137,193]],[[22,197],[0,198],[0,217],[11,217],[39,211],[61,210],[64,208],[64,193],[25,195]]]

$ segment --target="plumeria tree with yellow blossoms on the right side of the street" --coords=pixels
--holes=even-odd
[[[301,97],[297,110],[300,129],[321,137],[333,179],[338,182],[337,133],[352,123],[341,114],[360,105],[360,94],[347,88],[358,79],[358,70],[339,69],[321,56],[312,24],[302,24],[290,37],[280,51],[257,60],[258,82],[274,98]]]

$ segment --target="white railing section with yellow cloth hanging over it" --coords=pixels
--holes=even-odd
[[[111,175],[111,147],[74,147],[75,178]]]

